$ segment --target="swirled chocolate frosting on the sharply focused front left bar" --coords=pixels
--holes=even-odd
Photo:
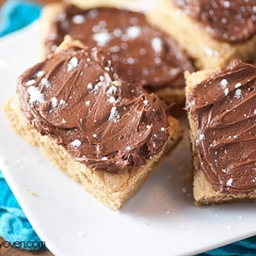
[[[141,84],[120,81],[96,48],[48,56],[19,77],[17,93],[29,123],[92,168],[141,166],[168,140],[164,102]]]

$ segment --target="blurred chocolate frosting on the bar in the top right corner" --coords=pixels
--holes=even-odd
[[[234,44],[244,42],[256,33],[255,0],[172,1],[198,20],[205,31],[217,40]]]

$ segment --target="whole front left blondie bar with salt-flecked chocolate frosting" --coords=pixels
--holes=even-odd
[[[19,77],[5,111],[22,138],[111,209],[122,207],[182,135],[162,100],[122,81],[108,54],[70,36]]]

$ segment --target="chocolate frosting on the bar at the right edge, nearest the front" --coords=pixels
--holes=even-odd
[[[215,191],[256,189],[256,66],[231,61],[197,84],[186,108],[201,168]]]

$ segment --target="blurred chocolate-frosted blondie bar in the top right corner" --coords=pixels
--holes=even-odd
[[[198,69],[226,67],[256,56],[255,1],[160,0],[147,14],[195,59]]]

